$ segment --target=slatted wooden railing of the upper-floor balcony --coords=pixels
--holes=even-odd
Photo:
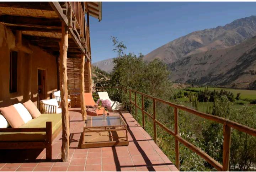
[[[72,15],[74,16],[82,37],[85,37],[85,12],[83,10],[81,2],[70,2]]]

